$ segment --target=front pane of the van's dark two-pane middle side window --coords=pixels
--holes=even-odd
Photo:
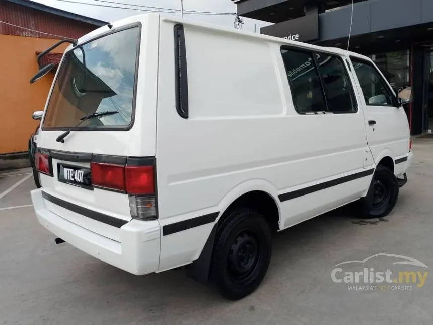
[[[355,96],[341,58],[315,55],[325,89],[328,112],[356,113]]]

